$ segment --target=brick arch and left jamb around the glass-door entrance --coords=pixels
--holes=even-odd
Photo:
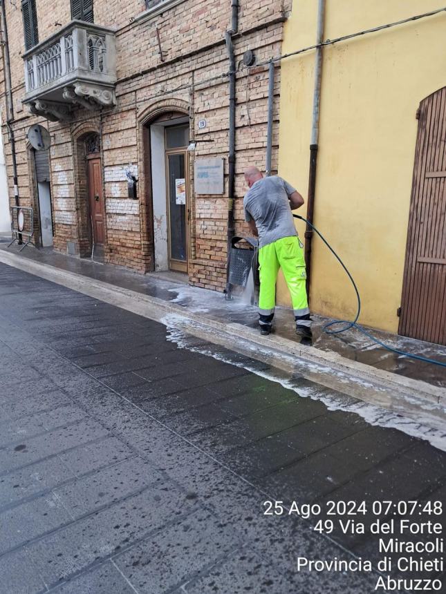
[[[147,270],[154,270],[154,214],[151,197],[151,167],[149,125],[155,119],[167,112],[180,112],[189,116],[190,104],[185,99],[167,97],[151,102],[138,113],[138,186],[140,192],[140,231],[142,240],[142,255],[145,258]],[[193,129],[192,122],[191,128]],[[193,206],[191,204],[191,209]]]

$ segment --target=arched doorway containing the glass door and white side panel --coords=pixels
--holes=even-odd
[[[144,125],[155,271],[187,273],[190,237],[189,115],[162,111]]]

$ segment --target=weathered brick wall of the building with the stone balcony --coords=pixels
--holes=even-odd
[[[155,5],[156,3],[154,3]],[[154,10],[160,9],[160,4]],[[234,36],[236,74],[236,232],[247,233],[242,199],[246,191],[243,169],[248,164],[265,167],[268,67],[243,67],[245,50],[251,49],[261,62],[279,55],[284,15],[291,0],[240,0],[239,35]],[[39,0],[39,40],[71,19],[68,0]],[[24,96],[23,26],[20,3],[6,3],[12,70],[13,104],[19,193],[21,204],[35,205],[30,180],[26,130],[39,122],[51,133],[51,188],[55,222],[55,248],[66,251],[74,242],[77,253],[89,251],[89,222],[85,207],[86,173],[82,138],[97,131],[101,138],[104,207],[106,220],[105,257],[110,262],[138,271],[153,268],[150,172],[145,155],[143,122],[164,106],[189,111],[196,137],[191,154],[192,180],[191,253],[189,278],[192,284],[223,290],[227,257],[227,151],[229,68],[225,31],[230,28],[230,0],[183,0],[162,12],[144,12],[143,0],[94,0],[95,22],[116,29],[118,104],[113,108],[78,109],[69,123],[48,122],[21,108]],[[158,30],[158,34],[157,34]],[[158,46],[158,35],[160,49]],[[161,61],[162,57],[162,61]],[[215,78],[214,80],[209,80]],[[12,162],[6,126],[6,95],[3,60],[0,71],[0,105],[10,200],[13,202]],[[273,169],[277,169],[277,124],[279,67],[275,82],[275,127]],[[192,82],[194,86],[192,87]],[[183,87],[183,88],[181,88]],[[198,130],[198,119],[207,126]],[[204,142],[204,141],[211,142]],[[225,159],[225,195],[193,195],[193,166],[196,157]],[[138,200],[127,196],[125,171],[131,167],[138,178]]]

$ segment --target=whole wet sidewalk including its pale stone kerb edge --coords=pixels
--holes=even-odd
[[[287,372],[308,379],[317,376],[323,385],[398,414],[431,415],[431,426],[444,426],[444,367],[388,352],[356,330],[328,336],[322,331],[324,318],[315,316],[313,347],[308,347],[295,337],[290,310],[278,308],[275,334],[263,337],[255,307],[241,298],[227,301],[223,294],[189,287],[181,275],[141,275],[32,247],[18,254],[17,247],[0,245],[0,261],[238,352],[249,351],[259,361],[274,361]],[[446,347],[384,332],[373,334],[392,347],[446,361]]]

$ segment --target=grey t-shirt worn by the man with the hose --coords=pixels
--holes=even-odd
[[[296,236],[288,199],[295,189],[278,175],[257,180],[245,193],[245,221],[254,222],[259,231],[259,247],[284,237]]]

